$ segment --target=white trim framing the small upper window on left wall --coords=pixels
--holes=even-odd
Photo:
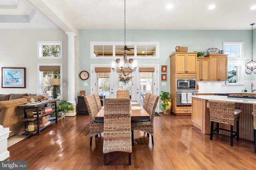
[[[42,57],[43,45],[60,45],[60,57]],[[62,59],[62,41],[37,41],[37,59]]]

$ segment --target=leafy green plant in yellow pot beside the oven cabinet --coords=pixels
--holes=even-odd
[[[163,92],[160,95],[161,106],[164,114],[170,115],[172,108],[172,99],[169,92]]]

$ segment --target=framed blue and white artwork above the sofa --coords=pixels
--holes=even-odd
[[[26,88],[26,68],[2,67],[2,88]]]

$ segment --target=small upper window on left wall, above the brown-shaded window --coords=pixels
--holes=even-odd
[[[62,41],[38,41],[38,59],[62,59]]]

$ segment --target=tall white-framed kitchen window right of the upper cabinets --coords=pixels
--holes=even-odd
[[[228,81],[225,84],[243,84],[244,42],[223,42],[228,54]]]

